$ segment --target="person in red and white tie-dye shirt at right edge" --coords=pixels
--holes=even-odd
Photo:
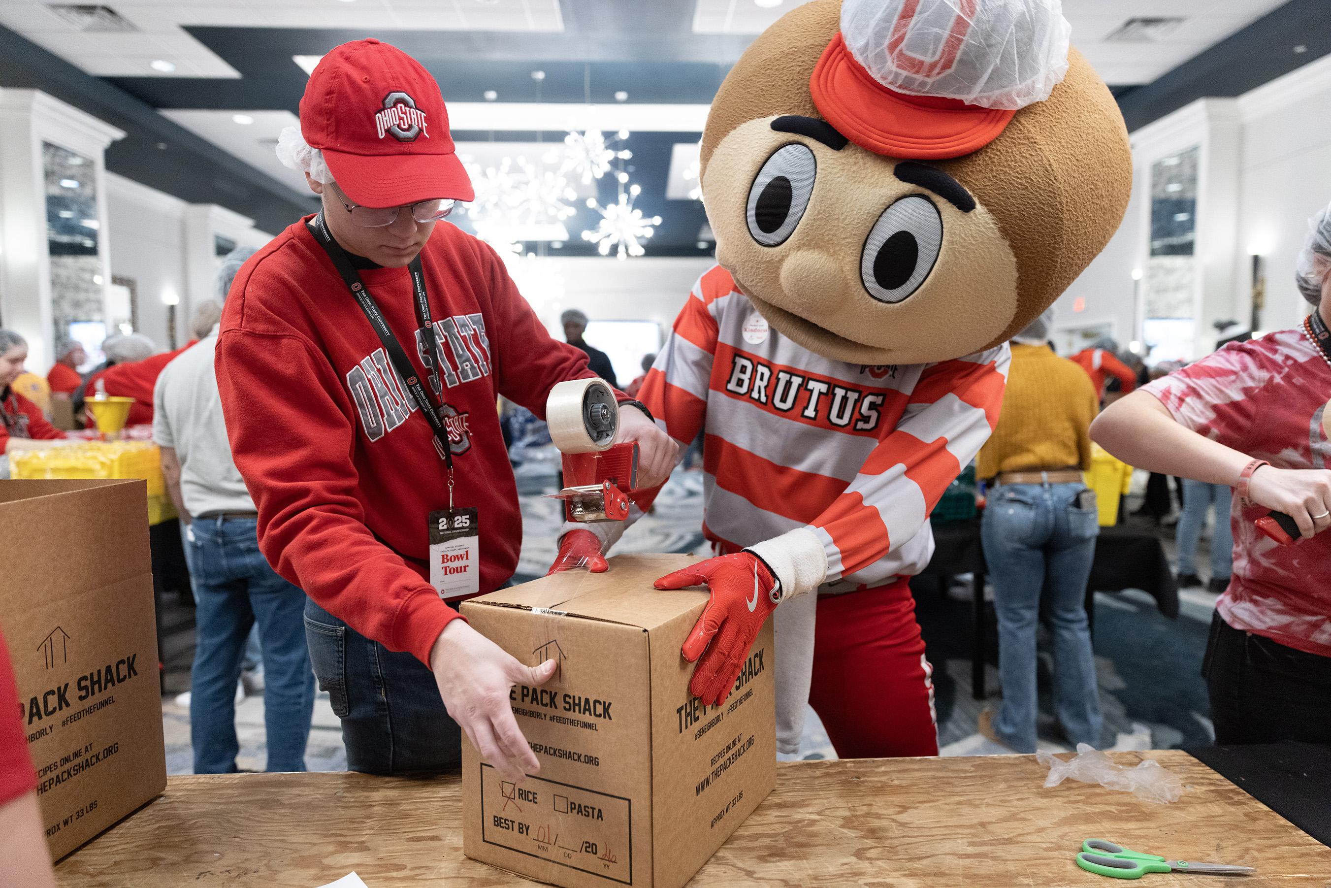
[[[1133,466],[1235,487],[1234,570],[1202,671],[1217,743],[1331,743],[1331,206],[1298,277],[1303,324],[1230,343],[1115,402],[1091,438]],[[1299,538],[1255,525],[1290,515]]]

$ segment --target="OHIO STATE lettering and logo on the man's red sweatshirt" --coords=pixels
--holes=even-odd
[[[425,365],[435,395],[443,399],[445,387],[453,389],[490,375],[490,339],[479,313],[435,321],[434,332],[434,354],[429,353],[425,337],[417,332],[417,357]],[[346,373],[346,387],[361,415],[361,429],[371,443],[399,427],[419,409],[382,347],[361,358]],[[469,414],[445,403],[439,415],[449,431],[453,454],[471,450]]]

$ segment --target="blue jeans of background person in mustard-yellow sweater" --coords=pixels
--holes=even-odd
[[[1085,485],[1002,485],[989,494],[981,538],[998,615],[1002,704],[994,732],[1036,751],[1036,627],[1044,591],[1054,635],[1054,714],[1073,743],[1099,746],[1103,719],[1086,622],[1086,582],[1099,534]]]

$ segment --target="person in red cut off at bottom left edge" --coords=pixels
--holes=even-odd
[[[0,635],[0,885],[55,888],[9,648]]]

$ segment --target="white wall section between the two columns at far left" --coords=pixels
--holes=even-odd
[[[185,301],[185,201],[136,181],[106,173],[110,273],[134,281],[137,332],[168,347],[166,305],[173,293]],[[188,318],[186,318],[188,321]],[[185,324],[177,322],[184,332]],[[177,335],[177,345],[184,339]]]

